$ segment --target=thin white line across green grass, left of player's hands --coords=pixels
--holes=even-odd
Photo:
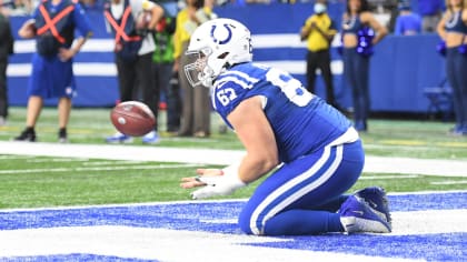
[[[148,169],[179,169],[196,167],[195,164],[152,164],[152,165],[112,165],[112,167],[95,167],[95,168],[49,168],[49,169],[16,169],[0,170],[0,174],[17,173],[53,173],[53,172],[72,172],[72,171],[116,171],[116,170],[148,170]]]

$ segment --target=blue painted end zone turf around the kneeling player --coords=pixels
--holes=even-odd
[[[388,198],[390,209],[395,212],[467,209],[467,192],[404,194],[388,195]],[[126,225],[241,234],[236,221],[244,204],[242,201],[227,201],[0,211],[0,230]],[[248,245],[429,261],[467,261],[466,232],[467,229],[459,233],[288,236],[285,238],[287,241],[249,243]],[[44,261],[67,261],[68,259],[80,260],[81,256],[83,259],[89,256],[88,259],[92,260],[92,254],[51,255],[43,259]],[[13,259],[8,258],[8,260]],[[29,259],[42,260],[42,256]],[[112,256],[96,256],[96,259],[128,261]]]

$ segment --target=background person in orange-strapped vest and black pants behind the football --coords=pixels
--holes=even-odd
[[[112,0],[105,7],[108,29],[115,36],[115,52],[120,91],[120,102],[138,100],[141,92],[142,102],[155,117],[158,115],[159,90],[152,75],[152,53],[155,40],[149,30],[156,28],[163,17],[163,9],[153,2],[141,0]],[[140,88],[140,90],[137,90]],[[156,121],[155,130],[142,137],[143,143],[159,142]],[[108,143],[131,142],[132,138],[120,132],[106,139]]]

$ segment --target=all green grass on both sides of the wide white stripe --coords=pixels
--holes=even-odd
[[[109,122],[109,111],[74,109],[69,125],[71,142],[103,143],[103,138],[115,132]],[[0,140],[10,140],[23,128],[26,110],[11,108],[10,112],[9,124],[0,127]],[[161,113],[160,144],[142,145],[138,139],[133,144],[242,149],[234,132],[218,133],[219,125],[220,120],[213,114],[210,138],[172,138],[163,132],[165,114]],[[370,131],[361,137],[367,154],[371,155],[467,160],[467,138],[447,135],[451,125],[436,121],[371,120]],[[43,110],[37,132],[40,141],[57,141],[54,109]],[[0,209],[189,200],[189,191],[178,184],[180,178],[192,173],[193,167],[178,163],[0,155]],[[350,191],[375,184],[385,187],[389,192],[467,189],[465,178],[399,175],[394,179],[388,175],[364,173]],[[367,179],[369,177],[376,178]],[[445,181],[458,183],[437,183]],[[257,183],[229,198],[248,198]]]

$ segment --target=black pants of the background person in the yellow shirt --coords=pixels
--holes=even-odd
[[[316,70],[321,71],[321,77],[326,84],[326,101],[336,105],[334,95],[332,73],[330,71],[330,53],[329,50],[317,52],[308,51],[307,53],[307,90],[315,93]]]

